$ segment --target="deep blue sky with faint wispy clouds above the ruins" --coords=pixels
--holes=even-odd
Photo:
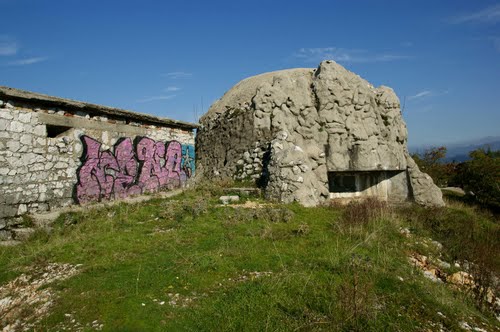
[[[194,121],[333,59],[405,100],[410,145],[500,136],[499,1],[0,0],[0,85]]]

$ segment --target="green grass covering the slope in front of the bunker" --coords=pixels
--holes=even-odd
[[[418,208],[407,217],[381,209],[358,223],[345,208],[238,209],[217,197],[212,188],[62,215],[50,234],[0,248],[0,285],[33,266],[82,264],[51,286],[58,298],[39,330],[60,327],[68,313],[107,331],[459,330],[463,320],[499,328],[467,295],[408,263],[414,245],[400,227],[448,234]],[[448,209],[447,220],[472,213],[455,209],[460,216]]]

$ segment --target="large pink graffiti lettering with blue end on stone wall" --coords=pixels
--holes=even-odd
[[[194,174],[194,147],[148,137],[122,138],[113,152],[82,136],[82,165],[77,171],[78,203],[125,198],[179,188]]]

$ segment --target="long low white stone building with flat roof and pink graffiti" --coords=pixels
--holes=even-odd
[[[185,186],[197,127],[0,87],[0,240],[24,213]]]

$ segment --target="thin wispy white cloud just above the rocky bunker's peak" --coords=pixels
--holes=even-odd
[[[374,54],[366,50],[345,49],[337,47],[301,48],[294,57],[305,59],[308,62],[321,62],[323,60],[335,60],[337,62],[388,62],[396,60],[411,59],[408,55],[398,54]]]

